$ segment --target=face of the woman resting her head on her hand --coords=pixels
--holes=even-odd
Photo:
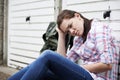
[[[69,33],[72,36],[82,36],[84,31],[84,20],[78,13],[71,19],[63,19],[60,29],[64,33]]]

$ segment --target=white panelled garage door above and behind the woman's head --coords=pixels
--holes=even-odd
[[[109,9],[109,6],[112,11],[110,21],[103,18],[103,13]],[[63,0],[62,7],[78,11],[89,19],[99,18],[109,22],[114,30],[114,36],[120,40],[120,0]]]

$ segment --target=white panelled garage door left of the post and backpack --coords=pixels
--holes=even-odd
[[[8,66],[25,67],[40,54],[42,35],[54,21],[54,0],[9,0],[8,7]]]

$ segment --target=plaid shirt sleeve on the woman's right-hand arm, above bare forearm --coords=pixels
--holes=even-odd
[[[113,63],[113,47],[111,30],[108,26],[98,26],[95,28],[96,51],[100,54],[100,60],[103,63]]]

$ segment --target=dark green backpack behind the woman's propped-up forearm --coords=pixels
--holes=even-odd
[[[40,53],[42,53],[44,50],[57,50],[57,42],[58,42],[58,32],[56,31],[56,22],[50,22],[46,32],[42,36],[44,40],[44,45],[42,49],[40,50]],[[72,47],[73,45],[73,36],[66,35],[66,50],[68,47]]]

